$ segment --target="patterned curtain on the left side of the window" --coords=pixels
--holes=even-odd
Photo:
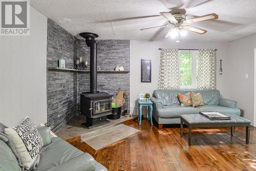
[[[180,89],[180,65],[178,49],[161,49],[158,89]]]

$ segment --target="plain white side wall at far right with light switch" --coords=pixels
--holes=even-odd
[[[244,112],[244,117],[256,126],[254,116],[254,48],[256,35],[251,35],[229,42],[229,94],[238,101],[238,108]],[[248,74],[248,79],[245,78]]]

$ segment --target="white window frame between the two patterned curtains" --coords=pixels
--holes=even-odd
[[[192,56],[192,82],[191,86],[182,86],[180,85],[180,89],[183,90],[191,90],[197,89],[197,54],[198,50],[179,50],[179,66],[180,66],[180,54],[181,53],[191,53]]]

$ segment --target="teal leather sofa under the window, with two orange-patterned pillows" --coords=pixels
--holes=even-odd
[[[229,115],[241,115],[240,109],[236,108],[234,100],[220,98],[218,90],[191,90],[201,93],[204,105],[194,108],[193,106],[181,106],[177,94],[185,94],[186,90],[155,90],[151,101],[154,103],[153,116],[159,128],[163,124],[180,124],[180,115],[199,114],[199,112],[217,111]]]

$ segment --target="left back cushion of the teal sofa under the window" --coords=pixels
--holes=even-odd
[[[155,90],[153,96],[162,99],[163,105],[180,104],[177,94],[185,94],[185,90]]]

